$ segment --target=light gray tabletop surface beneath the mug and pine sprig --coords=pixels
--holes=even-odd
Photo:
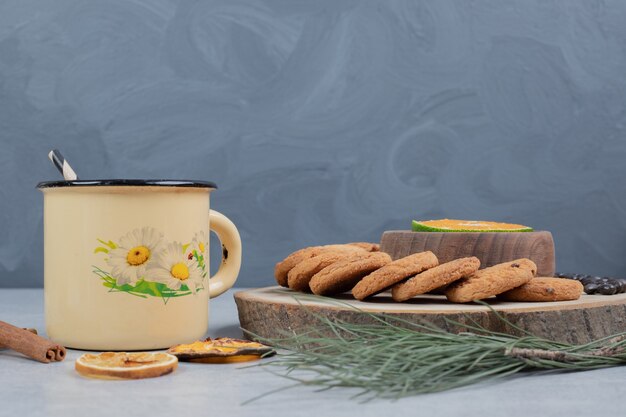
[[[239,336],[232,291],[212,301],[209,336]],[[0,291],[0,320],[43,331],[39,289]],[[40,364],[0,351],[0,416],[583,416],[623,415],[626,368],[526,375],[439,394],[360,404],[355,392],[297,387],[242,405],[288,381],[244,365],[182,363],[172,375],[139,381],[80,377],[69,351],[61,363]]]

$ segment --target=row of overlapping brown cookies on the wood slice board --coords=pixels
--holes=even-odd
[[[578,281],[536,274],[537,266],[529,259],[484,269],[475,257],[439,264],[432,252],[392,260],[377,244],[364,242],[304,248],[274,269],[283,287],[327,296],[352,291],[357,300],[387,290],[398,302],[432,292],[443,293],[454,303],[493,296],[507,301],[566,301],[582,294]]]

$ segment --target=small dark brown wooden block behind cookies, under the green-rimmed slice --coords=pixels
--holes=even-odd
[[[537,264],[538,276],[553,276],[555,271],[554,241],[550,232],[525,233],[445,233],[391,230],[384,232],[380,250],[392,259],[412,253],[432,251],[439,263],[475,256],[481,268],[519,258]]]

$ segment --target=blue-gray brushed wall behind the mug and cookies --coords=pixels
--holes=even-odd
[[[626,3],[0,1],[0,286],[42,283],[40,180],[196,178],[240,285],[412,218],[553,231],[626,276]]]

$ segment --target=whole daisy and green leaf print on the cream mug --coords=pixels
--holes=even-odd
[[[97,239],[103,266],[93,273],[109,292],[124,292],[141,298],[196,294],[205,289],[206,232],[197,232],[190,243],[168,242],[153,227],[129,231],[117,242]]]

